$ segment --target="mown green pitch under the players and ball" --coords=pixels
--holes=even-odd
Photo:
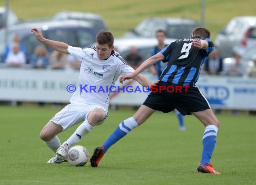
[[[212,163],[222,174],[196,172],[202,150],[203,124],[185,117],[185,132],[178,131],[174,113],[155,113],[139,128],[108,150],[98,168],[89,164],[47,164],[53,152],[40,140],[44,124],[59,109],[0,106],[0,184],[3,185],[166,185],[256,184],[255,116],[217,115],[221,122]],[[133,115],[132,110],[110,111],[79,145],[93,149]],[[63,142],[76,127],[59,134]]]

